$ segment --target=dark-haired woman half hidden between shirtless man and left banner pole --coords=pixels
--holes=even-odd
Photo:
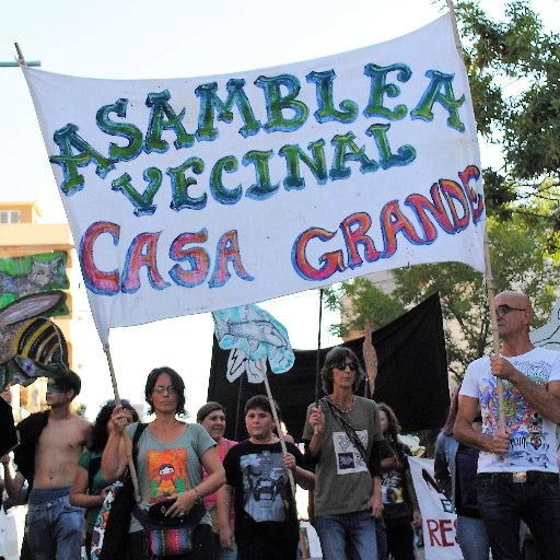
[[[128,423],[138,422],[138,412],[128,400],[121,401],[121,415]],[[91,545],[95,520],[110,482],[105,479],[101,470],[101,457],[107,443],[109,430],[113,428],[110,415],[115,408],[115,401],[108,400],[100,410],[93,424],[92,442],[78,460],[74,480],[70,488],[70,503],[85,511],[85,553],[91,558]]]

